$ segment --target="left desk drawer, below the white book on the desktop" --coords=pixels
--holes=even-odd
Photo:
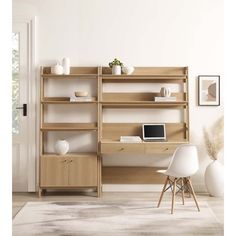
[[[101,153],[145,153],[143,143],[102,143]]]

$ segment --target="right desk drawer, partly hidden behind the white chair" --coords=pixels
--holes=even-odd
[[[146,154],[173,154],[175,149],[178,147],[176,144],[156,144],[156,143],[145,143]]]

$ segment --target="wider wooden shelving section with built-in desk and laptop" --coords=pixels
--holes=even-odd
[[[100,150],[102,154],[172,154],[181,144],[189,142],[189,103],[188,103],[188,68],[187,67],[136,67],[132,75],[111,75],[108,67],[102,68],[99,74],[101,80],[100,109],[103,116],[104,109],[178,109],[183,115],[183,120],[178,123],[165,123],[167,132],[166,142],[140,142],[122,143],[120,136],[142,137],[142,123],[106,123],[102,117],[99,126]],[[120,84],[176,84],[181,87],[171,96],[176,101],[155,102],[154,97],[160,96],[156,92],[103,92],[103,87],[112,84],[114,87]],[[155,86],[153,86],[155,87]],[[120,112],[122,112],[120,111]],[[158,117],[156,123],[159,123]],[[163,123],[163,122],[161,122]],[[134,176],[142,175],[141,178]],[[103,167],[103,183],[105,184],[157,184],[163,179],[156,173],[153,167]]]

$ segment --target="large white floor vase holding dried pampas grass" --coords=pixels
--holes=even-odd
[[[212,161],[205,172],[205,184],[207,191],[213,197],[221,197],[224,194],[224,166],[217,160]]]

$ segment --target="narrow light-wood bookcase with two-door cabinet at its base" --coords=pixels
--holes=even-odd
[[[48,79],[66,80],[68,83],[77,80],[96,80],[98,83],[97,67],[72,67],[70,75],[53,75],[49,67],[41,68],[41,121],[40,121],[40,169],[39,169],[39,195],[47,189],[77,189],[95,188],[97,196],[101,192],[101,160],[98,155],[98,145],[96,152],[67,153],[57,155],[47,153],[45,145],[47,134],[51,131],[74,132],[80,135],[83,132],[96,132],[97,142],[99,140],[98,121],[89,123],[48,123],[45,122],[47,106],[51,105],[89,105],[91,109],[97,109],[97,97],[92,97],[91,101],[70,101],[70,97],[46,97],[45,87]],[[76,79],[76,80],[75,80]],[[97,90],[98,95],[98,90]],[[65,114],[68,113],[65,109]]]

